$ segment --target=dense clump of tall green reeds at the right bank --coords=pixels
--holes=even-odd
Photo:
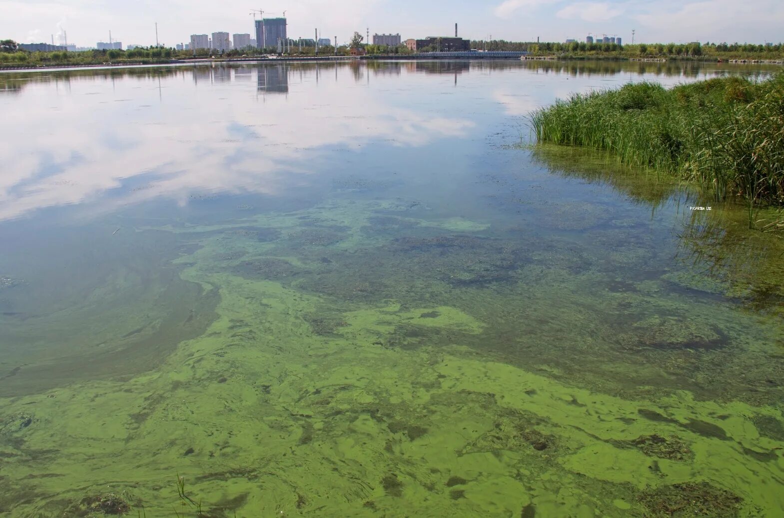
[[[608,150],[717,199],[784,205],[784,74],[575,94],[536,111],[532,125],[539,142]]]

